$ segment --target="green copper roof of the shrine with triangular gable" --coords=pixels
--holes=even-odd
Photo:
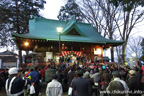
[[[77,23],[74,19],[69,21],[51,20],[45,18],[34,18],[29,20],[28,34],[15,34],[13,37],[31,38],[31,39],[45,39],[50,41],[59,41],[59,33],[57,27],[63,27],[61,41],[70,42],[87,42],[100,44],[123,44],[124,41],[114,41],[102,37],[91,24]],[[69,35],[68,33],[75,29],[79,36]]]

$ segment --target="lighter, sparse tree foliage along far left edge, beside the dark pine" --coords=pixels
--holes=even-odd
[[[11,40],[11,32],[8,30],[11,24],[8,23],[8,15],[10,13],[9,2],[0,1],[0,46],[8,48],[8,46],[14,45]]]

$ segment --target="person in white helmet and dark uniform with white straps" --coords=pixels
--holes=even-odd
[[[8,70],[9,78],[6,80],[7,96],[24,96],[23,87],[27,85],[28,80],[24,80],[18,76],[18,69],[12,67]]]

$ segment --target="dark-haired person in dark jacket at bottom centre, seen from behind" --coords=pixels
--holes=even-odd
[[[92,96],[92,87],[88,79],[82,78],[83,70],[77,70],[78,78],[73,81],[76,96]]]

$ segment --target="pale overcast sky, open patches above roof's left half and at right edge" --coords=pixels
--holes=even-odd
[[[58,19],[57,15],[60,11],[61,6],[64,6],[66,3],[66,0],[46,0],[45,9],[40,11],[40,14],[48,19]],[[133,33],[131,36],[141,36],[144,38],[143,34],[143,26],[144,21],[138,26],[133,29]]]

